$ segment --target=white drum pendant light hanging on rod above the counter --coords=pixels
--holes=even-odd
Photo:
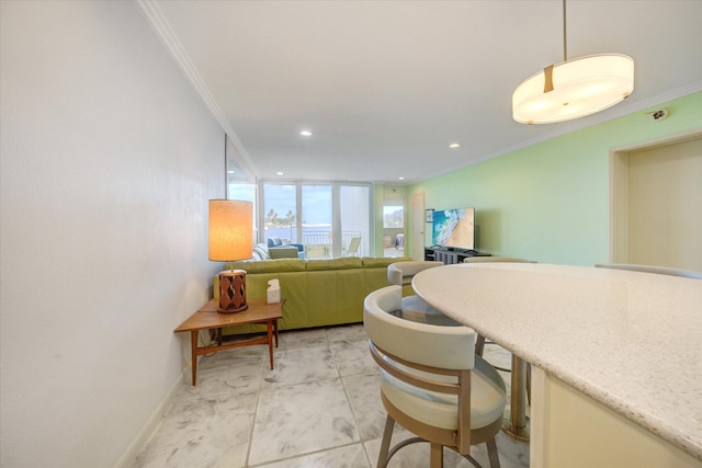
[[[512,117],[521,124],[554,124],[595,114],[634,91],[634,60],[599,54],[568,60],[563,0],[563,62],[524,80],[512,93]]]

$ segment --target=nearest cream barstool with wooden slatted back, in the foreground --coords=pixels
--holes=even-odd
[[[430,466],[441,467],[450,447],[479,467],[471,445],[487,444],[491,468],[499,468],[495,436],[506,404],[505,381],[475,355],[476,333],[401,319],[401,287],[386,286],[364,301],[363,323],[371,354],[381,367],[381,399],[387,421],[377,467],[401,447],[430,443]],[[395,422],[416,434],[389,448]]]

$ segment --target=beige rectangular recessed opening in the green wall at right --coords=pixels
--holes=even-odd
[[[610,262],[702,271],[702,130],[610,153]]]

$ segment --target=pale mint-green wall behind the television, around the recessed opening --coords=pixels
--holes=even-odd
[[[427,208],[475,207],[479,251],[543,263],[607,262],[610,151],[702,128],[702,92],[649,109],[661,107],[670,112],[665,121],[629,114],[414,184],[407,199],[424,192]]]

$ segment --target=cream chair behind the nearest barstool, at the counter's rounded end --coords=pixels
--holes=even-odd
[[[390,263],[387,266],[387,281],[403,288],[411,288],[412,277],[415,277],[417,273],[437,266],[443,266],[443,262],[409,261]],[[440,310],[434,309],[417,295],[403,297],[403,307],[398,309],[398,313],[401,312],[401,318],[405,320],[431,323],[434,326],[461,327],[461,323],[444,316]]]

